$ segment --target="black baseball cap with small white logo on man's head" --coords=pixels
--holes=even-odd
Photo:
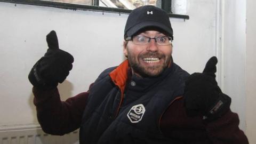
[[[124,38],[131,37],[145,28],[160,29],[173,39],[169,15],[159,7],[145,5],[132,10],[126,21]]]

